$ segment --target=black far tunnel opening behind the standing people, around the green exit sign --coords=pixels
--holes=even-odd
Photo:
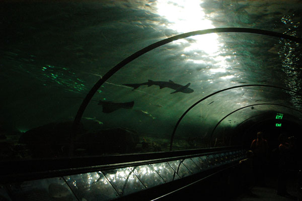
[[[274,116],[276,113],[262,114],[261,117],[257,116],[257,119],[244,123],[244,126],[240,126],[238,132],[242,135],[243,147],[247,150],[250,149],[251,143],[257,138],[257,132],[263,132],[263,138],[268,142],[268,169],[273,173],[278,171],[279,150],[280,145],[279,136],[285,134],[287,138],[294,137],[294,163],[291,164],[290,169],[293,171],[299,170],[302,165],[302,138],[300,131],[302,129],[301,122],[297,121],[295,117],[291,116],[287,119],[282,119],[281,126]],[[238,135],[239,137],[239,135]]]

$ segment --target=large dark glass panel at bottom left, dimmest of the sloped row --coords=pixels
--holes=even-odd
[[[20,201],[78,200],[61,177],[13,183],[9,189],[13,199]]]

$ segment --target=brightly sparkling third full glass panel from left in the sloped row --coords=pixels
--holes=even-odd
[[[120,195],[145,189],[130,168],[120,168],[102,172]]]

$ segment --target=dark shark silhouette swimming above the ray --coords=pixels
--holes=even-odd
[[[172,80],[169,80],[169,82],[148,80],[148,82],[145,82],[145,83],[123,84],[123,85],[128,86],[128,87],[133,87],[133,90],[137,89],[138,87],[140,87],[142,85],[147,85],[148,87],[150,87],[152,85],[158,85],[160,87],[160,89],[163,89],[165,87],[174,89],[175,91],[170,94],[175,94],[177,92],[182,92],[182,93],[188,94],[188,93],[194,92],[193,89],[189,88],[190,84],[191,83],[188,83],[187,85],[183,86],[183,85],[174,83]]]

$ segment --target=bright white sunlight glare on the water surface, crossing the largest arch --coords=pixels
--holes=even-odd
[[[157,12],[163,18],[168,20],[165,27],[186,33],[196,30],[213,29],[212,22],[204,13],[201,7],[202,1],[190,0],[163,0],[157,2]],[[183,54],[185,61],[208,66],[208,75],[215,73],[227,73],[226,69],[230,67],[228,61],[230,56],[221,56],[225,53],[224,44],[219,40],[216,33],[192,36],[190,38],[174,41],[174,44],[183,45]],[[192,55],[193,53],[193,55]],[[224,76],[223,80],[228,80],[234,76]]]

